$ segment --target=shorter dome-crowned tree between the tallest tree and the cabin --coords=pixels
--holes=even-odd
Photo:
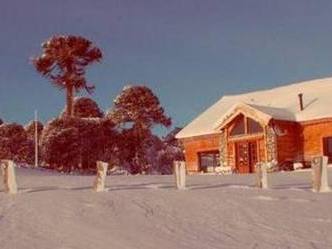
[[[155,125],[171,125],[171,118],[166,116],[158,97],[146,86],[127,86],[114,100],[107,118],[122,130],[123,163],[129,164],[132,173],[148,171],[151,165],[147,149],[153,141],[151,129]]]

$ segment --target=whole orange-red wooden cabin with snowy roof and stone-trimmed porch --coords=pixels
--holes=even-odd
[[[189,172],[252,173],[259,161],[283,169],[316,155],[332,162],[332,78],[224,96],[176,137]]]

